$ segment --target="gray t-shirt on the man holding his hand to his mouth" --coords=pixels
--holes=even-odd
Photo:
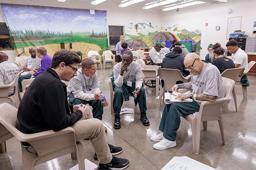
[[[135,88],[141,88],[143,77],[142,77],[142,71],[141,66],[137,62],[131,62],[129,67],[127,68],[127,71],[124,72],[124,75],[120,75],[122,67],[122,62],[117,63],[113,67],[113,73],[114,73],[114,82],[117,87],[122,87],[123,84],[127,84],[127,81],[130,81],[132,83],[135,83]]]

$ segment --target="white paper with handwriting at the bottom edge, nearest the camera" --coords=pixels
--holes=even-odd
[[[161,170],[216,170],[187,156],[173,157]]]

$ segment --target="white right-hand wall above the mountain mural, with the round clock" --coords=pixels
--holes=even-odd
[[[184,28],[198,28],[202,31],[201,37],[201,59],[208,53],[209,44],[219,42],[223,48],[226,43],[227,19],[228,17],[242,16],[241,30],[245,34],[252,36],[253,21],[256,21],[256,0],[228,0],[221,4],[201,4],[192,7],[180,8],[176,10],[162,12],[163,27],[179,24]],[[226,13],[226,9],[231,8],[231,13]],[[208,26],[205,26],[208,23]],[[219,31],[215,30],[220,26]]]

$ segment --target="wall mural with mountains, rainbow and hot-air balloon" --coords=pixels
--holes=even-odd
[[[201,31],[189,31],[178,24],[163,28],[151,23],[130,23],[125,26],[125,41],[130,48],[152,48],[157,41],[192,41],[192,50],[200,54]],[[166,45],[167,46],[167,45]]]

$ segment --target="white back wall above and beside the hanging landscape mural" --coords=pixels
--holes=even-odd
[[[91,5],[89,1],[84,0],[67,0],[65,3],[57,0],[0,0],[1,3],[37,5],[37,6],[52,6],[64,8],[83,8],[107,11],[107,25],[125,26],[128,23],[154,23],[161,25],[161,10],[143,10],[137,5],[120,8],[112,0],[107,0],[99,5]],[[67,16],[68,17],[68,16]],[[5,23],[3,11],[0,8],[0,22]],[[17,54],[14,51],[5,51],[9,55],[9,60],[14,62]]]

